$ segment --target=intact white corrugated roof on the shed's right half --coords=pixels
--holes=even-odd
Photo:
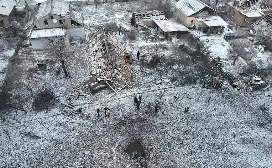
[[[189,31],[188,28],[180,23],[169,20],[153,20],[164,32]]]

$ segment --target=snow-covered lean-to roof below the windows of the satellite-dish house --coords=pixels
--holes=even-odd
[[[32,30],[29,38],[44,38],[44,37],[59,37],[65,36],[65,29],[63,27],[53,29]]]

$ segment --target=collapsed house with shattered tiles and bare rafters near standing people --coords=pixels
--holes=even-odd
[[[131,67],[124,59],[125,42],[120,41],[115,32],[102,25],[88,37],[92,65],[90,81],[106,82],[114,91],[115,88],[128,85]]]

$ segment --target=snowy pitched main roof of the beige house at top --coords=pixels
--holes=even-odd
[[[205,3],[198,1],[198,0],[180,0],[179,2],[177,2],[175,4],[175,7],[180,12],[182,12],[186,17],[189,17],[189,16],[195,14],[196,12],[199,12],[204,7],[208,7],[210,9],[212,9],[211,7],[206,5]],[[212,10],[214,10],[214,9],[212,9]]]

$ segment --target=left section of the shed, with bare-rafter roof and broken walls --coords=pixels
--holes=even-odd
[[[135,26],[138,31],[143,29],[149,29],[154,25],[153,20],[165,19],[164,12],[162,10],[154,10],[147,12],[134,12],[130,19],[130,24]]]

